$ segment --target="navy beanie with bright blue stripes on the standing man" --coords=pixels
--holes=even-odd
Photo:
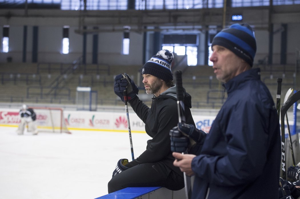
[[[233,24],[229,28],[217,33],[212,40],[211,46],[220,45],[244,59],[253,66],[256,53],[256,39],[250,25]]]

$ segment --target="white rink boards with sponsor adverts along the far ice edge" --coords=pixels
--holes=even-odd
[[[37,123],[47,123],[51,118],[49,114],[37,111]],[[64,110],[64,123],[74,130],[95,129],[97,131],[128,132],[126,113],[120,112],[94,112],[94,111],[67,111]],[[54,117],[55,118],[55,117]],[[145,132],[145,124],[135,113],[129,114],[132,132]],[[208,132],[214,121],[213,116],[194,116],[196,127]],[[19,109],[1,109],[0,125],[15,126],[20,123]]]

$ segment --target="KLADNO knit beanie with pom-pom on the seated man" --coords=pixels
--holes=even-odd
[[[171,72],[173,58],[173,53],[169,50],[160,50],[146,62],[141,70],[141,74],[154,75],[165,82],[173,80],[173,74]]]

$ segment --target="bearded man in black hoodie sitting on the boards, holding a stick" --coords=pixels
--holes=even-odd
[[[152,139],[147,141],[146,150],[133,161],[119,160],[108,183],[109,193],[134,186],[162,186],[170,190],[184,187],[183,173],[173,165],[170,150],[169,131],[179,122],[172,61],[173,53],[160,50],[141,70],[146,93],[154,95],[151,108],[137,97],[139,90],[127,74],[115,78],[115,93],[124,102],[123,91],[126,90],[128,102],[145,123],[146,133]],[[184,104],[187,123],[194,124],[190,112],[191,97],[185,91]]]

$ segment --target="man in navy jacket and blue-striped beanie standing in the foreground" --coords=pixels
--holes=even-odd
[[[200,154],[173,152],[173,164],[195,175],[195,199],[278,198],[279,120],[260,69],[252,68],[253,30],[248,24],[231,25],[217,33],[211,47],[214,73],[228,98],[203,138]],[[186,125],[190,128],[179,124],[179,131],[197,134],[193,125]]]

